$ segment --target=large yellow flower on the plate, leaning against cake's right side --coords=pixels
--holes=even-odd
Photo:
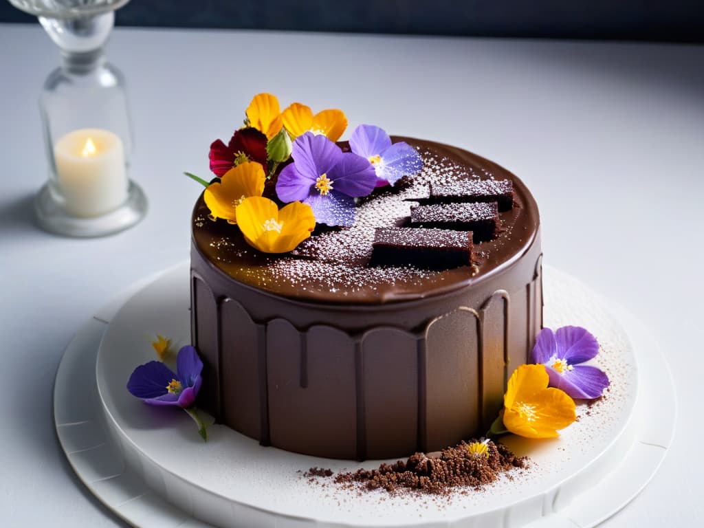
[[[503,425],[527,438],[553,438],[575,420],[574,401],[560,389],[548,389],[545,365],[521,365],[503,396]]]

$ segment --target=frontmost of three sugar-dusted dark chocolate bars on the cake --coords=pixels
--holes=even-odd
[[[472,263],[472,233],[415,227],[377,227],[371,265],[447,269]]]

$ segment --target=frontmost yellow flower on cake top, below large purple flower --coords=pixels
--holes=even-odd
[[[237,225],[250,246],[264,253],[287,253],[315,229],[313,209],[294,201],[279,210],[268,198],[253,196],[237,208]]]

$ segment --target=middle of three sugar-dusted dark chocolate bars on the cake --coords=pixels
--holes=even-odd
[[[434,227],[443,230],[471,231],[474,244],[496,238],[498,204],[434,203],[410,208],[411,227]]]

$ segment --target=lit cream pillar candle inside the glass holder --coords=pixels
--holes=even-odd
[[[113,132],[99,128],[69,132],[54,145],[54,161],[68,213],[99,216],[127,200],[125,149]]]

